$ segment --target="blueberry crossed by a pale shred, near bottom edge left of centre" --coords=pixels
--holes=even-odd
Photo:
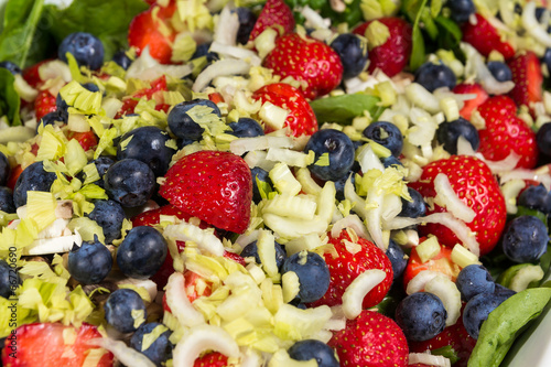
[[[163,327],[161,323],[147,323],[141,324],[140,327],[133,333],[130,338],[130,346],[136,350],[142,353],[148,357],[155,366],[161,367],[172,355],[172,344],[169,341],[171,332],[165,327],[165,332],[158,336],[158,338],[147,348],[143,347],[143,337],[147,334],[151,334],[155,327]]]

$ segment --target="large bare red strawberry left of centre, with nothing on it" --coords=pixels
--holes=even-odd
[[[242,234],[249,225],[252,179],[236,154],[199,151],[182,158],[166,172],[160,194],[217,228]]]

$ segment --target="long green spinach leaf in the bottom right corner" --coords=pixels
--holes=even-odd
[[[468,366],[499,366],[515,339],[540,315],[550,299],[551,289],[532,288],[501,303],[483,323]]]

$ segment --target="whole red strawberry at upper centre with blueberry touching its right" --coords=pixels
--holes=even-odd
[[[327,44],[296,33],[276,41],[276,47],[266,56],[263,66],[272,68],[282,78],[292,76],[305,82],[304,96],[315,99],[335,89],[343,78],[343,63]]]

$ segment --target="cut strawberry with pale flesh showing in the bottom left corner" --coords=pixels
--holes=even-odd
[[[67,332],[75,332],[73,344],[65,344]],[[83,324],[79,328],[63,324],[43,323],[28,324],[17,328],[17,348],[10,347],[10,337],[6,339],[2,350],[2,364],[7,367],[80,367],[91,349],[96,346],[88,341],[101,337],[96,326]],[[112,354],[107,352],[97,366],[112,366]]]

